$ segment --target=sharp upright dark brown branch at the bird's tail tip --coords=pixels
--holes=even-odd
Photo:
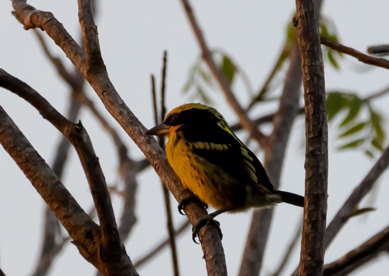
[[[315,0],[296,0],[305,100],[305,200],[300,276],[321,276],[327,214],[328,127],[324,68]]]

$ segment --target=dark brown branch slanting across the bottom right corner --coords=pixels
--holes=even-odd
[[[382,251],[389,249],[389,227],[373,236],[371,239],[350,251],[342,258],[326,264],[323,276],[348,275],[356,268],[365,264]]]

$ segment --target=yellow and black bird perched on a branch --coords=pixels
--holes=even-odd
[[[180,105],[166,115],[162,124],[145,133],[168,138],[167,160],[183,187],[192,192],[181,200],[178,211],[182,213],[184,205],[194,199],[216,210],[194,226],[194,241],[207,220],[224,212],[271,208],[281,202],[303,207],[303,196],[274,189],[256,155],[210,106]]]

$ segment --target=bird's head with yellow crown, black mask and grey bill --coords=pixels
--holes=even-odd
[[[162,124],[147,130],[146,134],[169,137],[181,128],[220,124],[227,125],[227,122],[216,109],[200,103],[187,103],[170,111]]]

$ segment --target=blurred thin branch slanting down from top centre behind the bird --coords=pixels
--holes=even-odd
[[[196,21],[195,14],[193,12],[193,9],[189,3],[189,0],[181,0],[181,3],[185,9],[186,15],[188,16],[189,22],[191,23],[192,29],[195,32],[195,37],[197,39],[197,42],[200,46],[202,57],[208,67],[210,68],[213,77],[219,84],[221,90],[223,91],[224,95],[227,98],[228,103],[230,104],[231,108],[235,112],[235,114],[239,118],[240,124],[248,130],[250,133],[250,136],[257,140],[258,143],[261,146],[266,145],[266,136],[261,131],[258,130],[258,127],[254,124],[253,121],[250,120],[248,117],[246,111],[243,109],[243,107],[239,104],[238,99],[235,97],[234,93],[232,92],[230,82],[227,80],[227,78],[223,75],[221,70],[217,67],[215,64],[213,58],[212,58],[212,52],[210,51],[203,33],[201,32],[201,29]]]

